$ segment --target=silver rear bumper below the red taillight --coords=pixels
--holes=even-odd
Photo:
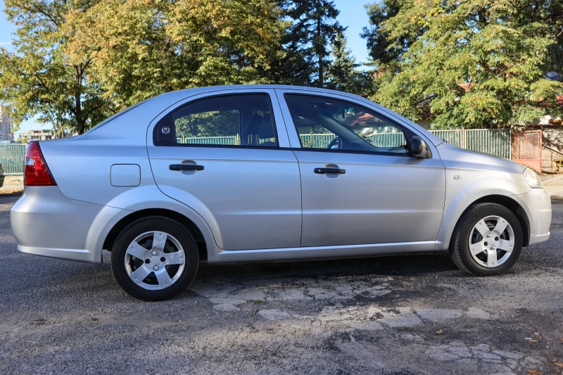
[[[100,263],[99,239],[105,233],[95,223],[107,223],[108,214],[118,216],[121,211],[66,198],[58,186],[26,186],[11,209],[10,221],[23,253]]]

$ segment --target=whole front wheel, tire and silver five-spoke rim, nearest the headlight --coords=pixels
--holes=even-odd
[[[450,255],[463,271],[492,276],[507,272],[521,248],[522,229],[514,213],[495,203],[478,203],[457,222]]]

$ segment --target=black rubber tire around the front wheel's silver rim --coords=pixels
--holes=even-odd
[[[498,216],[507,220],[514,232],[514,248],[510,256],[501,265],[484,267],[476,262],[469,250],[469,236],[479,220],[488,216]],[[464,212],[454,229],[450,243],[450,256],[455,265],[464,272],[478,276],[493,276],[507,272],[518,260],[522,249],[522,229],[517,217],[502,205],[478,203]]]

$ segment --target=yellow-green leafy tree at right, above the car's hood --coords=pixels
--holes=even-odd
[[[557,4],[556,4],[557,3]],[[549,13],[552,11],[552,13]],[[560,1],[404,1],[384,21],[387,51],[419,37],[396,61],[378,66],[374,100],[438,127],[506,127],[540,115],[562,115],[563,88],[546,80],[557,44]],[[559,27],[559,29],[557,29]]]

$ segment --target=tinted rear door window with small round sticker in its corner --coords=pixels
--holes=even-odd
[[[267,94],[203,98],[160,120],[155,144],[276,147]]]

